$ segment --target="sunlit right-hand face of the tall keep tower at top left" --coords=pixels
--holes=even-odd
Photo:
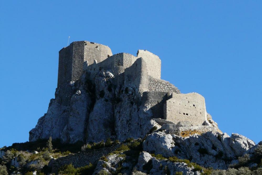
[[[94,60],[100,63],[112,55],[112,51],[108,46],[84,41],[84,61],[87,61],[88,65],[93,64]]]

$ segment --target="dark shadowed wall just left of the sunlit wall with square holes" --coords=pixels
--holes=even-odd
[[[164,119],[164,104],[169,98],[167,92],[146,91],[142,95],[142,104],[150,107],[153,118]]]

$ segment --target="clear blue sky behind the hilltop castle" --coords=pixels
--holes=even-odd
[[[223,132],[262,133],[261,1],[0,1],[0,147],[28,141],[70,42],[147,49],[162,79],[198,92]]]

